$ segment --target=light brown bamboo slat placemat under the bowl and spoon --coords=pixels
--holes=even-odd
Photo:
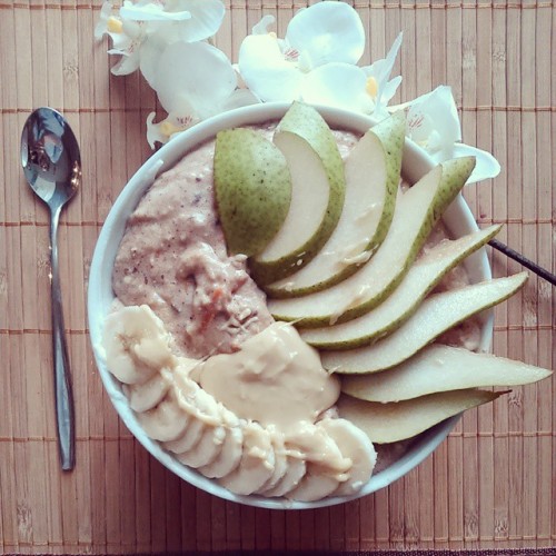
[[[315,512],[214,498],[155,461],[119,421],[97,375],[86,320],[88,269],[112,201],[149,156],[156,107],[139,76],[110,75],[92,31],[100,0],[0,0],[0,552],[502,549],[556,552],[556,380],[469,411],[433,457],[389,488]],[[264,13],[278,32],[304,1],[228,0],[217,44],[234,61]],[[468,187],[479,224],[556,266],[556,9],[550,1],[355,0],[365,62],[397,33],[395,100],[450,85],[464,139],[503,166]],[[59,470],[49,312],[48,215],[19,166],[41,105],[62,110],[82,148],[83,185],[62,216],[60,256],[77,415],[77,467]],[[519,270],[493,254],[494,274]],[[496,311],[494,351],[555,368],[554,289],[534,276]],[[550,550],[548,550],[550,552]],[[554,553],[553,553],[554,554]]]

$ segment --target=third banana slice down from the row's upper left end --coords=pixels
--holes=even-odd
[[[168,390],[165,399],[157,407],[137,414],[137,419],[148,436],[161,441],[178,438],[191,420],[190,416],[180,408],[173,388]]]

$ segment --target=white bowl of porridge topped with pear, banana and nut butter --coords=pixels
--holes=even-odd
[[[419,369],[487,351],[487,309],[524,278],[492,280],[498,228],[460,195],[473,160],[435,167],[405,126],[246,107],[121,191],[91,264],[91,342],[120,418],[182,479],[266,508],[340,504],[496,397]]]

